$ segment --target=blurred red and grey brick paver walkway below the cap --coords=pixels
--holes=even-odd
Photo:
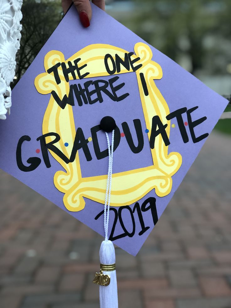
[[[116,248],[120,308],[231,307],[230,141],[209,137],[137,257]],[[0,178],[0,307],[99,307],[102,238]]]

